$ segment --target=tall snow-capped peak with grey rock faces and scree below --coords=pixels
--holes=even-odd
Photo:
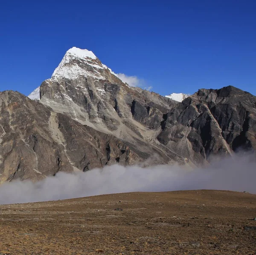
[[[150,144],[148,148],[166,155],[170,162],[184,163],[180,155],[156,139],[163,114],[177,102],[128,86],[92,52],[67,51],[52,78],[41,84],[40,96],[40,102],[55,112],[129,141],[143,153]]]

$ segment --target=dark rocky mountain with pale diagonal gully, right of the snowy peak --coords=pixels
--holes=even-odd
[[[256,97],[233,86],[200,89],[164,118],[158,140],[197,164],[256,149]]]

